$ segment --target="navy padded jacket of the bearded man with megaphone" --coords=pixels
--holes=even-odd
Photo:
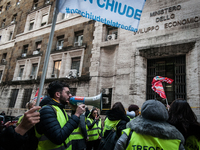
[[[47,106],[43,107],[44,105]],[[80,119],[75,115],[72,115],[71,118],[68,116],[68,122],[61,128],[55,111],[48,105],[58,106],[63,113],[65,111],[64,105],[55,102],[50,97],[45,97],[40,103],[42,107],[40,109],[40,122],[36,124],[36,130],[39,134],[44,134],[52,143],[60,145],[78,127]]]

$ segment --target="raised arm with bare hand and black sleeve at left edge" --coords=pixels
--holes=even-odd
[[[16,128],[13,126],[5,128],[0,134],[0,147],[4,150],[21,149],[28,139],[27,131],[40,121],[40,113],[36,112],[40,108],[35,106],[25,112],[22,122]]]

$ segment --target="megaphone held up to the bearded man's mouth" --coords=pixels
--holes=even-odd
[[[73,96],[69,99],[69,102],[72,105],[78,105],[78,104],[92,105],[102,110],[102,93],[94,97]]]

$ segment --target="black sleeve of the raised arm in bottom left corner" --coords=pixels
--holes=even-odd
[[[27,141],[28,136],[21,136],[13,126],[5,128],[0,134],[0,150],[19,150]]]

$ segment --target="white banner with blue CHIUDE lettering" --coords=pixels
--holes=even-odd
[[[136,32],[146,0],[59,0],[61,13],[78,13],[88,19]]]

